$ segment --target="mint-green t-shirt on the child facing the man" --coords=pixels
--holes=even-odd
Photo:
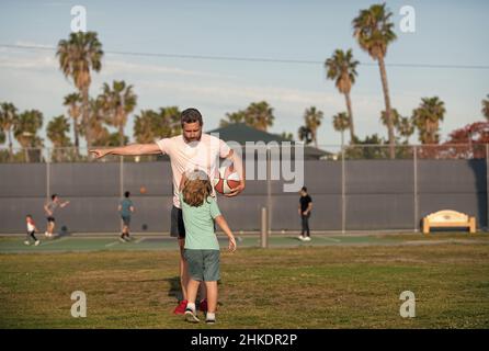
[[[181,192],[179,197],[185,225],[185,249],[219,250],[214,233],[214,218],[220,215],[216,199],[208,196],[201,206],[194,207],[183,201]]]

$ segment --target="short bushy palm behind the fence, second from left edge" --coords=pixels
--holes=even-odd
[[[43,113],[37,110],[24,111],[19,115],[13,135],[24,149],[25,161],[30,161],[29,149],[42,147],[43,141],[37,137],[37,131],[43,126]]]

